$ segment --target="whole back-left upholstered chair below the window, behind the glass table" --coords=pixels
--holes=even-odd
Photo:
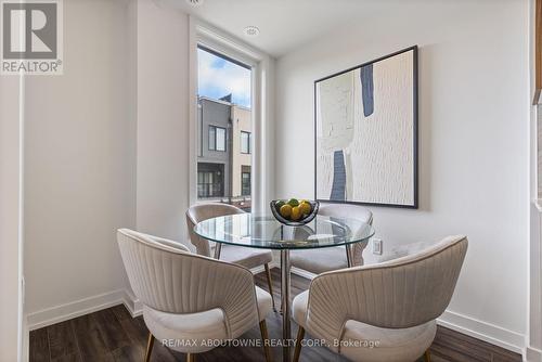
[[[233,205],[219,204],[219,203],[205,203],[191,206],[186,210],[186,225],[189,229],[190,241],[196,247],[197,254],[206,257],[212,257],[215,255],[214,248],[216,248],[215,245],[211,246],[211,243],[208,240],[199,237],[194,232],[194,227],[198,222],[211,218],[217,218],[220,216],[236,215],[244,212],[245,211]],[[255,249],[249,247],[238,247],[232,245],[222,245],[220,250],[220,260],[240,264],[248,269],[263,266],[266,269],[269,293],[271,294],[273,302],[273,310],[276,311],[273,298],[271,271],[269,270],[269,263],[273,260],[273,254],[271,253],[271,250]]]

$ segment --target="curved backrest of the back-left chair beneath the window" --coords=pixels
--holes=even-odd
[[[219,216],[244,214],[242,209],[233,205],[218,204],[218,203],[206,203],[197,204],[191,206],[186,210],[186,227],[189,229],[189,235],[191,243],[196,247],[196,251],[199,255],[210,257],[210,245],[209,241],[199,237],[194,233],[194,227],[204,220],[210,218],[217,218]]]

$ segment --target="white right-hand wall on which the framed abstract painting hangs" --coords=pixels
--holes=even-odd
[[[515,350],[527,333],[528,24],[527,1],[393,2],[276,65],[276,196],[311,197],[313,80],[420,46],[421,208],[372,207],[377,235],[385,250],[468,235],[443,320]]]

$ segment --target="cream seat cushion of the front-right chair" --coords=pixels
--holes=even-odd
[[[310,333],[306,325],[308,301],[309,290],[297,295],[293,302],[293,316],[297,324]],[[391,329],[350,320],[345,324],[339,352],[352,361],[415,361],[429,348],[436,332],[435,321],[410,328]]]

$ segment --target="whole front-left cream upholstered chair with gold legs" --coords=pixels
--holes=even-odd
[[[215,341],[237,338],[257,324],[270,361],[266,315],[271,312],[271,296],[255,286],[248,269],[128,229],[117,231],[117,241],[150,331],[145,362],[155,338],[188,353],[190,362],[195,353],[212,349]]]

